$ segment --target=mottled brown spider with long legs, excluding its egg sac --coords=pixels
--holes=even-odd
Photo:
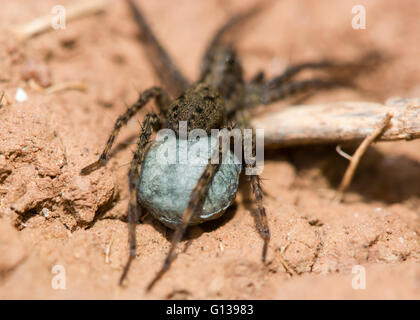
[[[81,174],[88,174],[103,165],[121,127],[150,100],[155,100],[160,113],[148,113],[143,120],[138,147],[129,170],[129,258],[121,275],[120,284],[123,283],[135,257],[135,225],[144,211],[138,199],[138,186],[141,183],[141,170],[147,146],[154,130],[170,128],[178,135],[180,121],[187,121],[188,131],[199,128],[205,130],[207,134],[210,134],[211,129],[229,128],[230,123],[235,123],[235,126],[244,130],[249,128],[247,110],[314,89],[353,86],[350,79],[354,79],[355,75],[366,70],[367,66],[372,64],[371,56],[365,56],[353,63],[336,63],[324,60],[290,66],[283,74],[269,80],[266,80],[264,74],[260,72],[251,80],[246,81],[233,42],[229,40],[229,34],[259,11],[261,6],[258,6],[232,17],[218,29],[204,55],[199,80],[189,83],[158,42],[141,11],[131,0],[127,0],[127,2],[141,29],[149,58],[164,88],[152,87],[140,94],[137,102],[116,121],[99,159],[81,171]],[[322,70],[324,75],[308,80],[294,80],[298,73],[308,69]],[[253,139],[252,148],[255,148],[255,139]],[[255,166],[255,163],[245,163],[244,166],[250,168]],[[169,269],[175,257],[175,248],[181,241],[186,227],[191,224],[192,218],[202,209],[208,185],[212,182],[218,169],[219,164],[209,160],[192,191],[188,191],[190,192],[189,202],[177,221],[171,248],[162,268],[149,284],[149,289]],[[260,233],[264,239],[262,260],[265,261],[270,232],[263,204],[263,191],[258,175],[250,175],[249,182],[260,218]]]

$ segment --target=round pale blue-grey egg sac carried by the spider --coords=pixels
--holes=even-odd
[[[216,138],[208,137],[198,141],[172,138],[153,142],[146,153],[138,184],[140,204],[163,224],[176,228],[216,142]],[[221,164],[202,210],[191,218],[189,225],[220,217],[235,198],[242,170],[240,159],[228,150],[226,160],[219,161]]]

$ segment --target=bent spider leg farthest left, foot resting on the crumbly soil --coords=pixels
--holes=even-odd
[[[156,99],[156,102],[160,108],[163,108],[165,105],[169,104],[169,99],[166,93],[158,87],[152,87],[146,91],[144,91],[139,98],[137,99],[136,103],[134,103],[130,108],[128,108],[121,116],[118,117],[117,121],[115,122],[114,129],[111,132],[111,135],[108,138],[108,141],[105,145],[104,150],[102,151],[99,159],[93,162],[92,164],[84,167],[80,174],[86,175],[93,170],[96,170],[101,165],[103,165],[109,155],[111,147],[114,143],[115,138],[117,137],[118,133],[120,132],[122,126],[126,125],[128,120],[130,120],[143,106],[145,106],[152,98]]]

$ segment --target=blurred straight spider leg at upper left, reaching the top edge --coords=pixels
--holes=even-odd
[[[168,92],[177,97],[189,86],[188,81],[177,68],[166,50],[159,43],[152,29],[149,27],[143,13],[134,4],[134,1],[127,0],[128,6],[133,14],[134,20],[140,28],[146,44],[147,55],[155,69],[159,80],[163,83]]]

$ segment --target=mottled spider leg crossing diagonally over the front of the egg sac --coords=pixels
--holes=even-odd
[[[218,139],[221,138],[219,134]],[[173,260],[176,257],[175,249],[178,243],[182,240],[182,237],[185,233],[185,229],[187,228],[191,218],[201,209],[203,205],[203,201],[205,199],[206,192],[208,190],[208,186],[212,181],[217,169],[219,168],[219,163],[212,163],[211,159],[214,159],[217,154],[219,155],[219,159],[221,159],[223,143],[219,140],[219,147],[213,150],[212,156],[209,158],[208,164],[204,169],[203,173],[201,174],[200,178],[198,179],[196,185],[194,186],[191,195],[190,201],[188,202],[187,209],[184,211],[182,222],[178,225],[175,230],[174,236],[172,238],[171,248],[169,249],[168,254],[166,255],[165,261],[153,278],[153,280],[147,286],[147,291],[150,291],[154,285],[162,278],[162,276],[169,270]]]

